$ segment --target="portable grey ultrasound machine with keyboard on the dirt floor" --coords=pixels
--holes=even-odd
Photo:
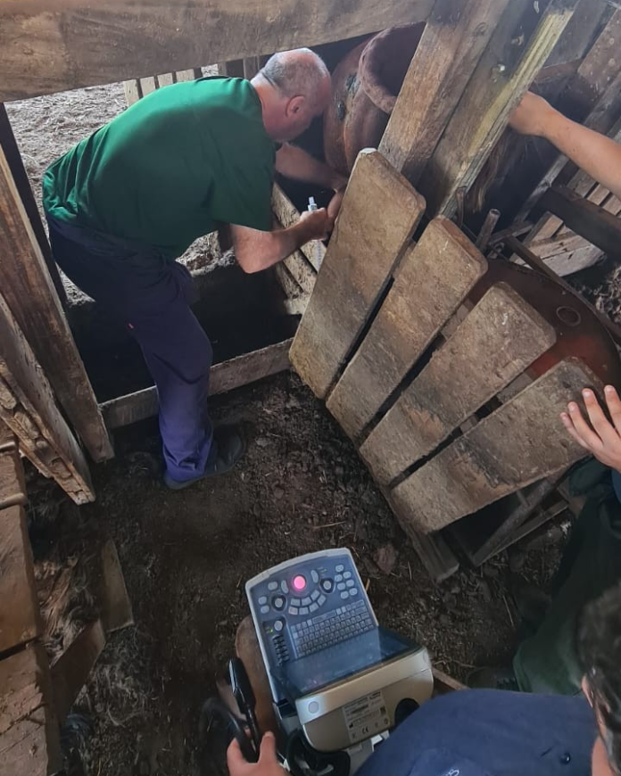
[[[245,590],[293,772],[352,774],[431,697],[426,649],[377,623],[348,549],[296,557]]]

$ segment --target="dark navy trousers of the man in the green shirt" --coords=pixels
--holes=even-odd
[[[190,310],[192,278],[150,246],[118,240],[48,216],[54,259],[88,296],[128,327],[142,348],[160,401],[169,475],[202,475],[211,449],[207,414],[211,343]]]

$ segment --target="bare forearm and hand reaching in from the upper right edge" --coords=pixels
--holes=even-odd
[[[522,135],[544,137],[579,168],[621,198],[621,145],[567,119],[542,97],[526,92],[509,120]]]

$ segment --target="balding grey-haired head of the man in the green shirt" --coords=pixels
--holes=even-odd
[[[274,54],[253,78],[270,136],[291,140],[326,110],[331,95],[330,73],[310,48]]]

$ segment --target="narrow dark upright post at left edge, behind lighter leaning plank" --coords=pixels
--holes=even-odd
[[[6,108],[3,103],[0,103],[0,148],[4,151],[4,156],[8,162],[9,168],[15,186],[17,187],[18,194],[21,196],[21,202],[23,203],[24,210],[28,216],[32,231],[37,237],[37,243],[43,254],[43,258],[46,260],[47,270],[50,273],[50,277],[54,282],[54,288],[58,294],[58,298],[61,300],[64,306],[67,303],[67,293],[65,292],[64,285],[62,285],[62,279],[56,262],[52,256],[52,249],[47,242],[46,229],[43,226],[43,221],[39,215],[37,208],[37,202],[35,201],[34,194],[32,194],[32,186],[30,186],[30,180],[24,162],[21,159],[21,153],[19,146],[13,135],[11,122],[6,113]]]

